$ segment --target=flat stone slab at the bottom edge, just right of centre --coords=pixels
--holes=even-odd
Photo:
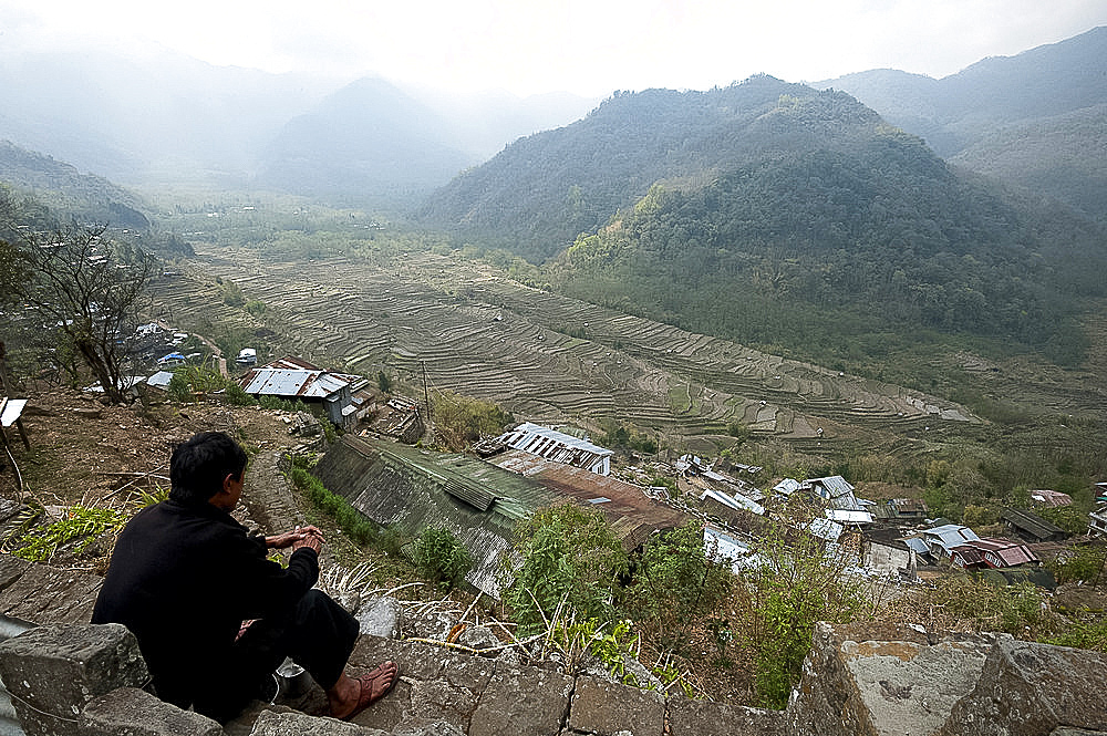
[[[653,691],[581,675],[569,707],[573,730],[614,736],[661,736],[665,726],[665,698]]]

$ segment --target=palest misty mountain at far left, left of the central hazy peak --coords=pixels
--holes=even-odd
[[[234,185],[332,89],[163,50],[0,53],[0,137],[131,185]]]

